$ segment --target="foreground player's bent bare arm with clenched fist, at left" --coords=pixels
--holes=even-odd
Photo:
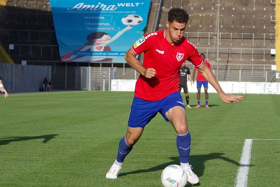
[[[143,75],[146,78],[152,78],[155,77],[157,74],[156,70],[154,68],[146,68],[144,67],[136,57],[136,54],[132,51],[130,48],[125,53],[125,60],[127,63],[134,68],[134,70],[138,71],[141,75]]]

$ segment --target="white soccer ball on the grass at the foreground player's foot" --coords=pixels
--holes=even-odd
[[[161,173],[161,182],[164,187],[184,187],[187,181],[187,173],[176,164],[167,166]]]

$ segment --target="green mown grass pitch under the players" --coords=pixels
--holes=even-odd
[[[234,186],[245,139],[280,139],[280,96],[242,95],[240,104],[225,104],[213,93],[211,108],[186,109],[190,164],[200,187]],[[0,96],[0,186],[160,187],[162,170],[179,164],[175,131],[158,114],[118,179],[105,178],[126,133],[133,92]],[[204,106],[204,93],[201,98]],[[190,105],[196,105],[196,93],[190,93]],[[280,141],[253,141],[248,187],[279,186],[279,150]]]

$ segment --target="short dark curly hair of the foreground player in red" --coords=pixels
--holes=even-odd
[[[188,23],[189,14],[182,8],[171,8],[168,12],[168,22]]]

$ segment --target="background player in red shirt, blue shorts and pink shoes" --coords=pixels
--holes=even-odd
[[[207,65],[209,69],[211,69],[210,63],[204,60],[205,55],[203,53],[200,54],[202,56],[203,62]],[[193,73],[192,73],[192,81],[193,84],[195,84],[195,72],[197,70],[197,67],[195,66],[193,68]],[[197,76],[196,76],[196,87],[197,87],[197,106],[195,108],[200,107],[200,91],[201,91],[201,86],[203,85],[204,87],[204,93],[205,93],[205,108],[210,108],[208,106],[208,81],[201,75],[200,71],[197,71]]]

